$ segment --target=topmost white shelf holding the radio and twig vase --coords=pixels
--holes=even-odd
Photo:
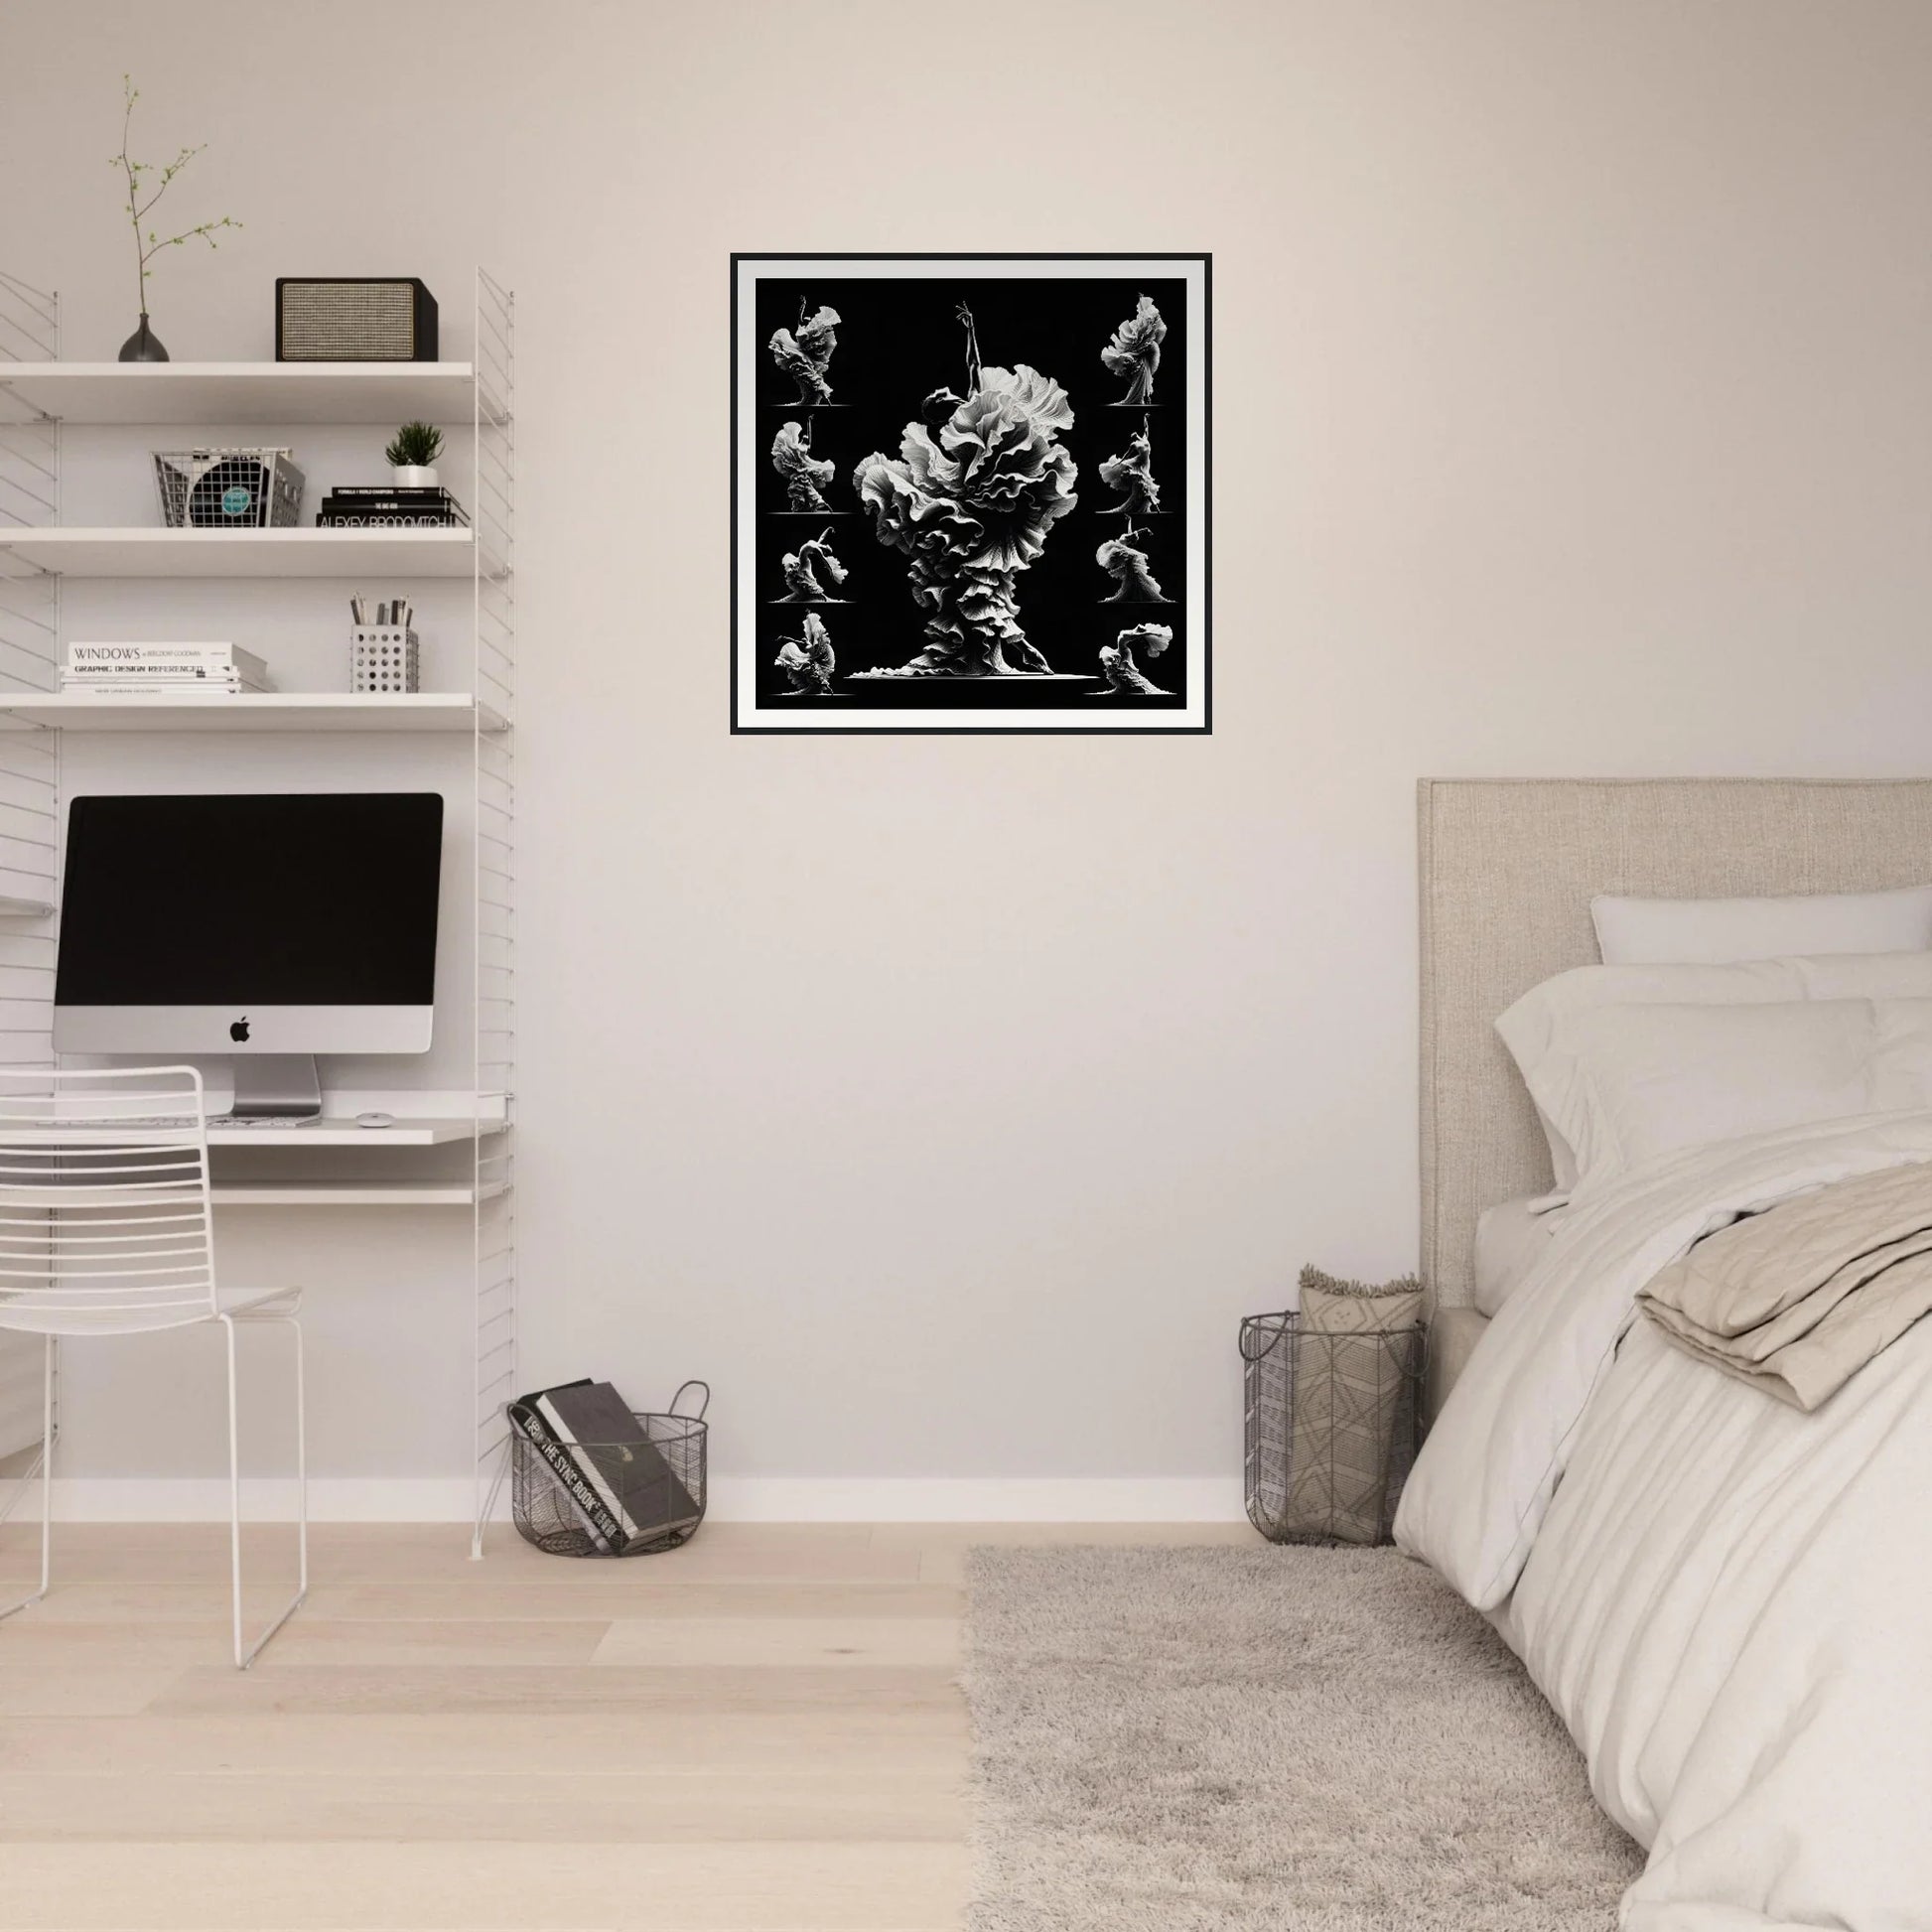
[[[68,423],[468,423],[469,363],[0,363],[0,396]]]

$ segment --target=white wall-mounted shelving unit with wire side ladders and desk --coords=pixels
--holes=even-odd
[[[471,1553],[506,1453],[502,1405],[516,1387],[516,593],[514,299],[477,270],[473,359],[448,363],[99,363],[60,359],[60,298],[0,272],[0,1063],[52,1061],[54,918],[60,902],[60,773],[68,732],[417,732],[471,748],[469,1111],[232,1128],[211,1146],[386,1150],[468,1144],[462,1179],[245,1179],[218,1175],[218,1208],[460,1208],[471,1217],[477,1517]],[[394,425],[423,419],[473,437],[468,529],[158,529],[62,520],[64,425]],[[182,440],[176,435],[172,440]],[[62,582],[75,578],[468,580],[468,692],[236,697],[100,697],[60,690]],[[406,746],[398,744],[398,759]],[[195,771],[218,782],[197,742]],[[444,918],[448,920],[448,910]],[[425,1095],[429,1099],[431,1095]],[[435,1095],[444,1105],[448,1095]],[[0,1337],[0,1345],[10,1337]],[[4,1352],[4,1350],[0,1350]],[[39,1360],[39,1345],[33,1347]],[[10,1385],[0,1360],[0,1385]],[[35,1418],[33,1434],[39,1434]],[[0,1435],[6,1428],[0,1426]]]

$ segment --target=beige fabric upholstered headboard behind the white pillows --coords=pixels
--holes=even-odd
[[[1590,898],[1932,881],[1932,779],[1424,779],[1422,1277],[1470,1300],[1476,1215],[1549,1186],[1495,1016],[1596,960]]]

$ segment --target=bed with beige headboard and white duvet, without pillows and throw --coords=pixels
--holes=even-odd
[[[1596,958],[1596,893],[1926,879],[1922,781],[1420,788],[1435,1420],[1397,1538],[1522,1656],[1650,1851],[1629,1932],[1932,1932],[1932,1321],[1803,1414],[1633,1312],[1727,1215],[1932,1163],[1932,1109],[1694,1150],[1542,1244],[1492,1219],[1519,1273],[1492,1321],[1478,1219],[1551,1184],[1493,1022]]]

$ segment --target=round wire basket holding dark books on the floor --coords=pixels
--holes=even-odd
[[[692,1389],[696,1414],[678,1414]],[[553,1557],[641,1557],[688,1544],[705,1519],[711,1387],[686,1381],[667,1410],[634,1410],[622,1443],[539,1443],[510,1405],[510,1515]]]

